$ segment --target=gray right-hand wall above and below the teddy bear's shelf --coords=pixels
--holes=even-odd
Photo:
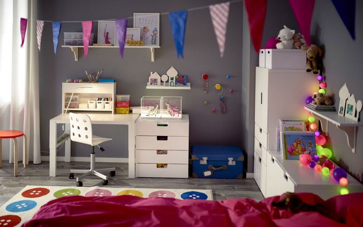
[[[363,100],[363,2],[356,1],[356,40],[349,35],[331,1],[316,1],[311,33],[313,43],[325,51],[323,63],[327,80],[327,93],[335,94],[335,106],[339,105],[339,89],[347,83],[356,100]],[[363,114],[361,112],[361,121]],[[329,123],[329,144],[334,160],[358,180],[363,182],[363,127],[358,128],[356,153],[347,145],[343,131]]]

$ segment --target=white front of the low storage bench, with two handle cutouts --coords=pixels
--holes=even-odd
[[[267,153],[266,197],[280,196],[285,192],[294,192],[295,184],[289,174]]]

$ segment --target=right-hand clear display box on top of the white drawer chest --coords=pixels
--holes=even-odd
[[[182,97],[161,97],[161,118],[182,118]]]

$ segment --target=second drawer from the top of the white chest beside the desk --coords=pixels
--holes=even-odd
[[[138,150],[189,150],[189,137],[136,136]]]

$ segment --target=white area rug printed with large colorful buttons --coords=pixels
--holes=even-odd
[[[65,196],[122,196],[213,200],[212,190],[26,186],[0,208],[0,227],[21,226],[50,200]]]

